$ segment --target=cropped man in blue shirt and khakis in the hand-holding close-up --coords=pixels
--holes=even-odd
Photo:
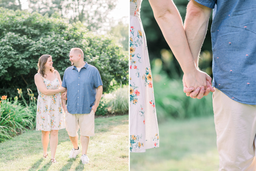
[[[189,2],[184,29],[196,64],[213,8],[212,83],[219,170],[256,170],[255,1]],[[200,92],[196,89],[189,95],[200,99]]]

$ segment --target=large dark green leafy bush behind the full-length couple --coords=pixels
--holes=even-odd
[[[17,88],[35,92],[34,75],[43,54],[52,56],[62,78],[73,47],[81,48],[84,60],[98,68],[104,92],[111,85],[128,83],[128,58],[112,39],[91,33],[81,22],[68,24],[56,16],[0,8],[0,94],[14,97]]]

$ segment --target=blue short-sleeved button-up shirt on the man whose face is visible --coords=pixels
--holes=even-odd
[[[98,69],[87,62],[78,72],[68,67],[63,76],[62,87],[67,88],[67,110],[71,114],[90,113],[96,97],[96,89],[102,86]]]

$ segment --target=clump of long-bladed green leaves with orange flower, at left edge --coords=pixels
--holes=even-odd
[[[5,99],[2,96],[0,102],[0,142],[6,141],[12,136],[22,133],[23,130],[33,129],[34,115],[29,106],[24,106],[18,102],[16,96]],[[4,99],[4,100],[3,100]]]

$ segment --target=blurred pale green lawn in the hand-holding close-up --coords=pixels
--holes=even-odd
[[[159,147],[130,153],[130,170],[216,171],[219,157],[213,116],[158,124]]]

